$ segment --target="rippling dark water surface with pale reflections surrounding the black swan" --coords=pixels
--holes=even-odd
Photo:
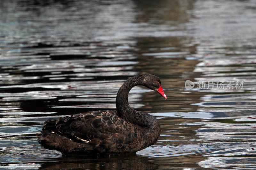
[[[255,169],[256,1],[0,2],[0,169]],[[65,156],[40,146],[45,120],[115,109],[129,77],[161,124],[135,155]],[[185,81],[244,81],[185,90]]]

